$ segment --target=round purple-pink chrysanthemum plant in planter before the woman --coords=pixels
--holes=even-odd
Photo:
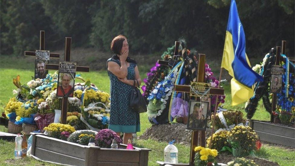
[[[103,129],[95,135],[95,144],[102,148],[110,148],[113,139],[116,139],[118,144],[122,143],[121,138],[114,131]]]

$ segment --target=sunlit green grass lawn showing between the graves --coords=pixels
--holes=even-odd
[[[31,69],[30,64],[22,64],[21,60],[18,60],[16,57],[7,58],[1,56],[1,67],[0,67],[0,110],[3,111],[3,106],[8,102],[9,98],[13,97],[12,90],[16,87],[12,83],[12,79],[17,75],[20,75],[21,83],[27,83],[31,80],[31,76],[34,75],[33,69]],[[15,62],[11,64],[11,62]],[[31,62],[34,64],[34,62]],[[143,67],[148,69],[148,66]],[[53,71],[49,71],[52,73]],[[145,77],[145,71],[142,70],[141,78]],[[109,93],[109,77],[106,71],[92,71],[90,73],[78,73],[84,79],[90,78],[91,82],[94,83],[100,90]],[[225,103],[224,106],[226,109],[234,110],[244,110],[244,104],[238,106],[231,106],[231,94],[229,84],[225,84]],[[141,118],[141,132],[138,135],[144,133],[144,131],[151,127],[151,124],[148,122],[147,113],[142,113]],[[270,115],[265,111],[264,107],[261,105],[258,106],[256,113],[254,114],[253,119],[258,120],[269,120]],[[0,131],[7,131],[4,126],[0,127]],[[149,165],[156,165],[156,161],[164,161],[164,148],[168,144],[167,142],[157,142],[154,140],[138,140],[138,146],[149,148],[152,151],[149,153]],[[14,159],[14,142],[7,142],[0,140],[0,165],[53,165],[50,163],[44,163],[41,161],[34,160],[33,158],[23,158],[19,160]],[[190,157],[190,146],[176,144],[178,148],[178,161],[181,163],[188,163]],[[294,165],[295,156],[294,149],[285,149],[271,145],[264,145],[265,153],[260,157],[265,158],[271,161],[276,161],[280,165]]]

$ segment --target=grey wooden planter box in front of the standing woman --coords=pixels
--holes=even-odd
[[[147,166],[150,149],[136,148],[127,150],[127,145],[121,144],[122,149],[109,149],[79,145],[45,135],[34,134],[31,155],[42,161],[65,165],[118,165],[118,166]]]

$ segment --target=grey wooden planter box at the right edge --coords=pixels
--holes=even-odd
[[[266,121],[251,120],[250,126],[261,141],[295,147],[295,129]]]

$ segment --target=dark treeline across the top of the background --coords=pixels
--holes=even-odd
[[[251,57],[287,40],[294,55],[294,0],[236,0]],[[109,51],[113,37],[124,34],[132,52],[152,53],[179,38],[189,48],[222,49],[230,0],[1,0],[1,54],[22,54],[39,46]]]

